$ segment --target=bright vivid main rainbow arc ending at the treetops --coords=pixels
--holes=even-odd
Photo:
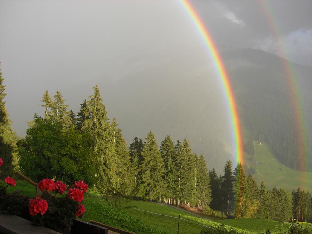
[[[235,157],[237,162],[243,163],[243,146],[242,146],[242,135],[241,135],[241,126],[239,121],[239,115],[237,111],[237,106],[235,102],[235,97],[233,94],[233,90],[231,87],[231,82],[228,78],[227,71],[224,67],[222,59],[217,51],[217,47],[214,45],[212,37],[210,36],[207,27],[203,24],[199,15],[194,10],[191,3],[187,0],[180,0],[183,4],[184,8],[188,12],[189,16],[192,18],[192,21],[195,23],[198,31],[200,32],[203,40],[206,43],[206,46],[210,52],[210,56],[212,57],[218,74],[222,80],[222,86],[226,93],[226,99],[229,106],[229,111],[231,113],[231,122],[232,122],[232,131],[234,133],[235,138]]]

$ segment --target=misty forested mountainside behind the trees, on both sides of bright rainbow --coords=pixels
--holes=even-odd
[[[187,51],[181,53],[188,55]],[[221,56],[233,85],[242,125],[251,133],[248,137],[266,141],[281,163],[299,169],[290,103],[293,97],[282,66],[284,59],[260,50],[231,47],[224,47]],[[227,159],[234,160],[233,136],[225,94],[212,61],[202,51],[197,52],[191,63],[186,63],[183,57],[169,60],[155,55],[155,60],[163,61],[161,69],[160,65],[144,66],[136,76],[125,75],[105,88],[105,103],[119,119],[127,142],[134,135],[144,138],[146,129],[155,132],[158,141],[168,134],[173,139],[185,136],[194,152],[203,154],[207,164],[221,172]],[[292,66],[298,74],[296,82],[301,90],[309,136],[312,68]]]

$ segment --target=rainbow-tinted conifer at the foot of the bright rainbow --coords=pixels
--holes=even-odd
[[[241,218],[246,210],[246,173],[241,163],[237,163],[235,168],[235,218]]]

